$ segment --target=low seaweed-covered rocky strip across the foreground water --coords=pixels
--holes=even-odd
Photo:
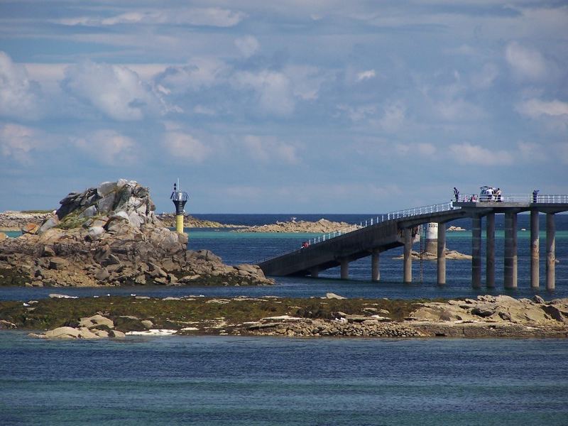
[[[97,339],[129,334],[280,337],[568,337],[568,299],[504,295],[476,299],[346,299],[51,295],[0,302],[0,328],[47,330],[33,337]]]

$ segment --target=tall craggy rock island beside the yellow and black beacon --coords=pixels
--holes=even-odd
[[[154,213],[148,188],[133,180],[72,192],[41,224],[0,241],[0,285],[266,285],[258,266],[228,266]]]

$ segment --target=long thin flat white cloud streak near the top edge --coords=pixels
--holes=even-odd
[[[63,18],[57,23],[67,26],[115,26],[121,24],[170,24],[192,26],[232,27],[240,23],[246,14],[219,8],[190,8],[147,10],[121,13],[109,18],[78,16]]]

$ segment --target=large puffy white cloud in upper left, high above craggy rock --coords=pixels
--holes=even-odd
[[[163,114],[166,107],[158,92],[136,72],[120,65],[82,62],[65,70],[63,86],[111,119],[141,120]]]

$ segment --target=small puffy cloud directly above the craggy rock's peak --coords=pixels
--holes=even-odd
[[[71,143],[105,165],[133,164],[138,160],[136,141],[114,130],[99,130],[85,138],[72,138]]]

